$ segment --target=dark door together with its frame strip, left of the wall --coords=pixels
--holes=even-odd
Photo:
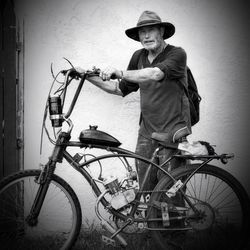
[[[1,1],[0,23],[0,179],[23,169],[24,22],[13,0]]]

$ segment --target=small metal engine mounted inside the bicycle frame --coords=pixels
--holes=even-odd
[[[136,189],[138,188],[137,173],[130,171],[120,183],[117,177],[109,176],[105,179],[104,186],[112,196],[111,206],[114,209],[120,209],[135,199]]]

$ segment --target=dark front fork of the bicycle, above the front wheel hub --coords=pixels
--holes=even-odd
[[[52,176],[55,172],[56,163],[62,162],[63,151],[65,150],[66,144],[69,140],[69,133],[62,132],[59,135],[49,162],[45,165],[40,175],[35,180],[35,182],[39,185],[39,188],[37,190],[36,197],[34,199],[34,203],[31,207],[30,213],[26,218],[26,222],[30,226],[36,226],[38,223],[38,216],[40,214],[45,196],[49,189]]]

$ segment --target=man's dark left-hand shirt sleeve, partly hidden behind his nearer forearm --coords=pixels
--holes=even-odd
[[[138,69],[138,61],[139,61],[139,56],[141,54],[142,50],[137,50],[133,56],[130,59],[129,65],[127,67],[127,70],[136,70]],[[123,94],[123,96],[126,96],[130,94],[131,92],[135,92],[139,89],[139,85],[134,82],[129,82],[126,80],[121,80],[119,83],[119,88]]]

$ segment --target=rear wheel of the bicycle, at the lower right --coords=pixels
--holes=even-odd
[[[173,176],[177,180],[183,180],[198,166],[199,164],[191,164],[185,168],[176,169],[173,171]],[[172,186],[173,181],[169,177],[161,179],[155,188],[157,192],[151,195],[151,202],[164,201],[166,194],[160,190],[168,190]],[[196,187],[199,194],[195,194]],[[152,237],[160,249],[246,249],[250,203],[247,192],[235,177],[221,168],[207,164],[192,176],[183,190],[193,205],[205,216],[203,220],[191,221],[192,223],[190,221],[188,223],[187,220],[179,222],[170,220],[170,228],[171,226],[179,228],[191,226],[192,229],[189,231],[152,231]],[[208,194],[208,192],[211,193]],[[187,203],[185,206],[188,207]],[[159,209],[152,208],[149,211],[149,218],[159,217],[159,214],[162,216]],[[190,214],[190,212],[187,213]],[[169,216],[171,217],[171,213]],[[149,223],[151,228],[159,226],[163,227],[162,222]]]

